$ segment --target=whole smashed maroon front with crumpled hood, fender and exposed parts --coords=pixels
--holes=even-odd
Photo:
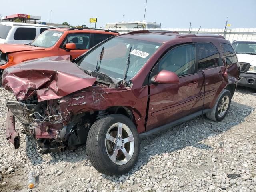
[[[42,69],[38,61],[42,62]],[[100,77],[98,76],[100,75]],[[108,114],[129,116],[145,130],[148,88],[132,90],[101,74],[86,74],[69,56],[42,58],[7,68],[2,84],[17,101],[8,101],[7,138],[19,147],[14,116],[42,147],[42,153],[86,142],[90,126]]]

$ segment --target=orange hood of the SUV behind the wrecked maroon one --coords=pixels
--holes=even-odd
[[[0,44],[0,50],[4,53],[12,53],[19,51],[32,51],[32,50],[44,50],[44,47],[34,47],[24,44]]]

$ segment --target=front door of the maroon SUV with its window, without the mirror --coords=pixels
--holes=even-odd
[[[192,113],[195,98],[202,89],[196,69],[196,46],[185,44],[172,48],[156,64],[150,77],[161,70],[175,72],[178,84],[150,84],[150,102],[146,130],[162,126]]]

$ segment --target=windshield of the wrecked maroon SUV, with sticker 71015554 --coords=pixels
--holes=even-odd
[[[78,61],[78,65],[84,70],[97,70],[117,80],[123,80],[127,72],[128,81],[138,73],[160,45],[156,42],[115,37],[84,56]]]

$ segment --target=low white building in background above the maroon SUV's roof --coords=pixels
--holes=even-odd
[[[115,22],[107,23],[105,25],[106,29],[156,29],[161,28],[161,24],[156,22],[146,22],[146,21],[134,21],[134,22]]]

